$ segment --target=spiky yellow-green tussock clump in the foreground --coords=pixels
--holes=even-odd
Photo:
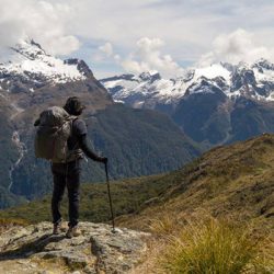
[[[251,229],[214,218],[189,221],[167,239],[159,259],[163,273],[238,274],[271,273]]]

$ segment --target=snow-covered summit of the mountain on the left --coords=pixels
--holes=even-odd
[[[61,60],[48,55],[34,41],[22,41],[5,52],[0,62],[0,89],[12,91],[14,79],[30,84],[28,91],[45,84],[76,82],[92,77],[89,67],[79,59]]]

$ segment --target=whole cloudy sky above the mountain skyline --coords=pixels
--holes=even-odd
[[[0,55],[26,37],[96,78],[174,78],[218,61],[274,62],[273,0],[0,0]]]

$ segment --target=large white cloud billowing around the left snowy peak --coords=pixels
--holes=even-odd
[[[70,33],[73,11],[62,1],[0,0],[0,47],[13,46],[26,37],[52,54],[69,55],[80,47]]]

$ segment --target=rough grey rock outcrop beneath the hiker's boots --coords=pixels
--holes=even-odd
[[[81,235],[52,235],[52,224],[13,227],[0,239],[0,273],[126,273],[146,252],[148,233],[81,222]]]

